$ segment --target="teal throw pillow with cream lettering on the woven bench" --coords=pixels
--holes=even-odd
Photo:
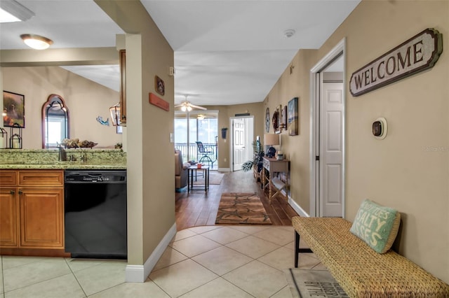
[[[358,208],[351,233],[365,241],[377,253],[387,253],[401,223],[401,213],[366,199]]]

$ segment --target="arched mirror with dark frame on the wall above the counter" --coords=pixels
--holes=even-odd
[[[56,148],[69,139],[69,109],[58,94],[51,94],[42,106],[42,148]]]

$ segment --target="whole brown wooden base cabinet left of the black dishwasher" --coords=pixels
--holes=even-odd
[[[64,248],[63,178],[62,170],[0,170],[0,248]]]

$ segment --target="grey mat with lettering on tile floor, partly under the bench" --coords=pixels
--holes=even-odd
[[[327,270],[284,269],[293,298],[349,297]]]

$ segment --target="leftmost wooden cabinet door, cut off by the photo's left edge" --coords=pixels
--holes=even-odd
[[[18,247],[18,204],[15,187],[0,188],[0,246]]]

